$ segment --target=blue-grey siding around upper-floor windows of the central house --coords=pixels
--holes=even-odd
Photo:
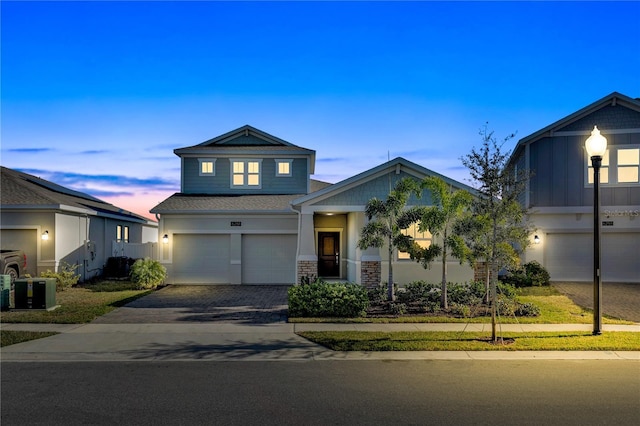
[[[199,159],[207,158],[206,155],[197,157],[184,157],[182,162],[182,192],[184,194],[305,194],[309,179],[309,166],[307,158],[291,158],[287,156],[251,157],[234,156],[233,158],[260,160],[261,161],[261,188],[238,189],[231,188],[231,159],[226,157],[211,156],[215,158],[215,176],[200,176]],[[292,173],[289,177],[276,176],[276,159],[292,159]]]

